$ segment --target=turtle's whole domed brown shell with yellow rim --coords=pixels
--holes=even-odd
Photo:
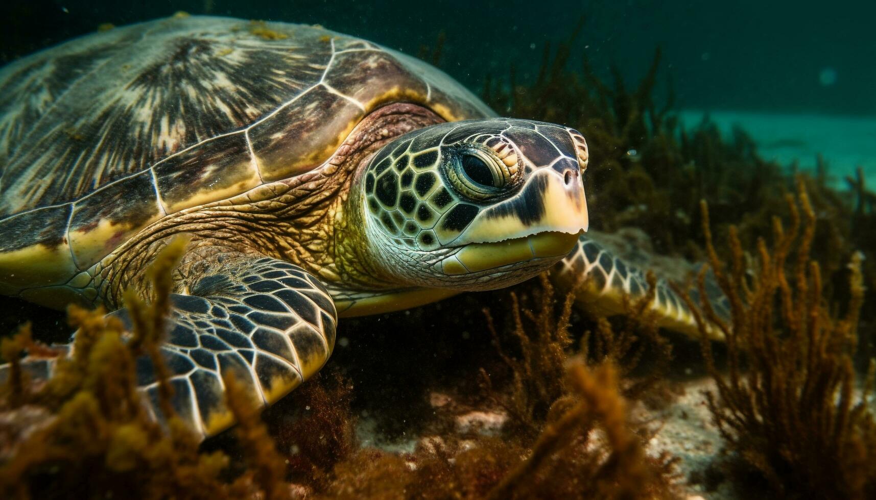
[[[318,26],[175,17],[18,60],[0,70],[0,292],[81,286],[149,224],[306,173],[399,101],[492,115],[434,67]]]

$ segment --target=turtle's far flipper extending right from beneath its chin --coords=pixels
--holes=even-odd
[[[579,306],[608,315],[626,313],[626,308],[645,297],[649,290],[645,272],[586,235],[578,238],[576,247],[556,264],[552,275],[555,282],[566,289],[577,285]],[[657,313],[657,324],[699,338],[693,313],[667,279],[659,277],[655,286],[651,307]],[[689,293],[696,303],[701,301],[696,287]],[[729,315],[727,299],[713,280],[707,279],[706,293],[716,313]],[[710,328],[709,334],[713,340],[723,340],[717,328]]]

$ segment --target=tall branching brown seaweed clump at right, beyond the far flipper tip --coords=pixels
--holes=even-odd
[[[849,264],[844,313],[831,311],[821,267],[809,259],[816,215],[802,181],[798,193],[799,208],[794,198],[787,200],[790,229],[775,218],[772,248],[759,240],[754,272],[733,229],[731,264],[717,256],[703,202],[710,267],[731,303],[729,322],[708,303],[696,313],[703,339],[712,324],[727,341],[726,370],[719,370],[703,340],[703,357],[717,383],[717,392],[708,394],[709,409],[735,458],[756,470],[775,494],[872,498],[876,415],[867,398],[876,364],[871,362],[858,395],[852,368],[864,300],[861,256]],[[702,271],[698,277],[701,293],[704,276]]]

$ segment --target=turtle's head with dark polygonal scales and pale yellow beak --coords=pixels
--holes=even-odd
[[[586,166],[582,135],[551,123],[407,133],[358,177],[371,260],[397,285],[484,290],[530,278],[587,230]]]

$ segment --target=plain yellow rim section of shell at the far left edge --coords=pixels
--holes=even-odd
[[[14,295],[31,286],[60,285],[76,274],[67,244],[42,243],[0,253],[0,290]]]

